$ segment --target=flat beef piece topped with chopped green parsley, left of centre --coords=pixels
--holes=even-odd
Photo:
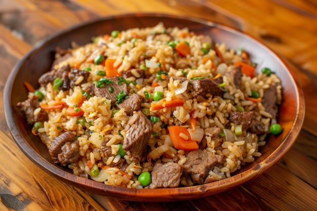
[[[103,87],[98,88],[98,87],[96,87],[95,84],[91,84],[85,88],[85,91],[92,96],[95,95],[97,97],[108,98],[109,100],[111,100],[112,106],[114,106],[115,102],[117,101],[115,96],[117,96],[121,91],[124,91],[124,93],[127,94],[127,92],[128,92],[127,85],[126,85],[126,83],[122,83],[122,85],[118,85],[117,77],[110,77],[108,79],[112,81],[111,85],[107,85],[104,83]],[[112,93],[109,92],[110,87],[113,88]]]

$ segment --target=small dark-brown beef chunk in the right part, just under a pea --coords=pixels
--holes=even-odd
[[[230,113],[229,121],[234,125],[242,125],[242,130],[246,131],[250,128],[254,119],[253,111],[238,112],[234,111]]]

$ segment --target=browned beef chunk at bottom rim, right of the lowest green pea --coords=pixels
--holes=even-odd
[[[151,172],[149,188],[176,188],[179,186],[182,167],[178,163],[156,163]]]

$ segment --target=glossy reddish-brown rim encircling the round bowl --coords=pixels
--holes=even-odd
[[[142,17],[142,18],[151,16],[151,17],[157,17],[157,18],[168,17],[168,18],[174,18],[174,19],[175,18],[185,19],[191,22],[202,23],[208,27],[217,27],[226,31],[239,33],[243,36],[246,36],[248,39],[252,39],[256,41],[262,47],[264,47],[267,51],[269,51],[270,54],[275,56],[275,58],[278,59],[281,65],[290,73],[290,77],[293,80],[293,84],[296,85],[295,86],[296,93],[294,93],[294,95],[296,95],[296,99],[297,99],[296,116],[294,120],[294,122],[297,122],[297,124],[296,125],[294,123],[292,124],[292,128],[290,132],[287,134],[287,136],[281,142],[278,148],[276,148],[270,155],[268,155],[268,157],[265,160],[255,164],[248,170],[240,174],[234,175],[230,178],[220,180],[214,183],[209,183],[205,185],[196,185],[191,187],[178,187],[178,188],[168,188],[168,189],[129,189],[129,188],[123,188],[123,187],[109,186],[103,183],[98,183],[93,181],[95,182],[93,183],[94,184],[93,190],[90,189],[91,182],[88,182],[92,180],[87,180],[85,178],[75,176],[72,173],[68,173],[62,170],[61,168],[56,167],[55,165],[51,164],[46,159],[44,159],[35,150],[33,150],[32,147],[21,136],[19,128],[16,127],[15,119],[13,116],[13,105],[11,105],[11,92],[13,89],[12,85],[15,78],[17,77],[17,72],[19,68],[21,67],[21,65],[23,64],[23,62],[27,58],[29,58],[34,52],[41,50],[41,48],[43,48],[47,43],[49,43],[50,41],[56,39],[56,37],[63,35],[69,31],[72,31],[74,29],[83,27],[85,25],[93,24],[96,22],[108,21],[111,19],[118,19],[118,18],[136,17],[136,16]],[[67,184],[70,184],[74,187],[78,187],[80,189],[84,189],[90,192],[95,192],[101,195],[105,193],[108,197],[111,197],[111,194],[114,194],[116,198],[135,200],[135,201],[144,201],[144,199],[146,199],[146,201],[168,201],[168,200],[171,200],[171,197],[173,197],[172,200],[183,200],[185,198],[194,199],[194,198],[199,198],[199,197],[226,191],[233,187],[242,185],[246,181],[261,175],[267,170],[269,166],[278,162],[278,160],[280,160],[285,155],[285,153],[287,152],[287,150],[284,150],[285,148],[289,149],[294,144],[296,138],[299,135],[301,126],[303,124],[305,104],[304,104],[303,92],[299,88],[299,83],[295,80],[293,75],[294,73],[292,72],[291,68],[288,65],[286,65],[283,59],[280,56],[276,55],[271,49],[269,49],[266,45],[264,45],[260,40],[257,40],[256,38],[250,36],[249,34],[245,32],[241,32],[237,29],[233,29],[231,27],[228,27],[222,24],[218,24],[215,22],[201,19],[201,18],[185,17],[185,16],[170,15],[170,14],[163,14],[163,13],[162,14],[161,13],[137,13],[137,14],[129,13],[124,15],[106,16],[106,17],[101,17],[94,20],[90,20],[90,21],[85,21],[80,24],[75,24],[66,29],[60,30],[57,33],[54,33],[51,36],[39,42],[25,56],[23,56],[12,69],[5,85],[5,90],[4,90],[5,116],[6,116],[7,124],[9,126],[10,133],[14,141],[20,148],[20,150],[33,163],[35,163],[38,167],[42,168],[44,172],[50,174],[51,176],[59,178],[61,181]]]

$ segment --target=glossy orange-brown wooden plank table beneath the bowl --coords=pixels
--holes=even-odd
[[[133,12],[204,18],[247,32],[284,57],[304,90],[306,116],[291,150],[260,177],[190,201],[132,202],[51,178],[14,143],[0,104],[0,210],[317,210],[317,3],[299,0],[3,0],[0,95],[11,69],[47,36],[87,20]]]

